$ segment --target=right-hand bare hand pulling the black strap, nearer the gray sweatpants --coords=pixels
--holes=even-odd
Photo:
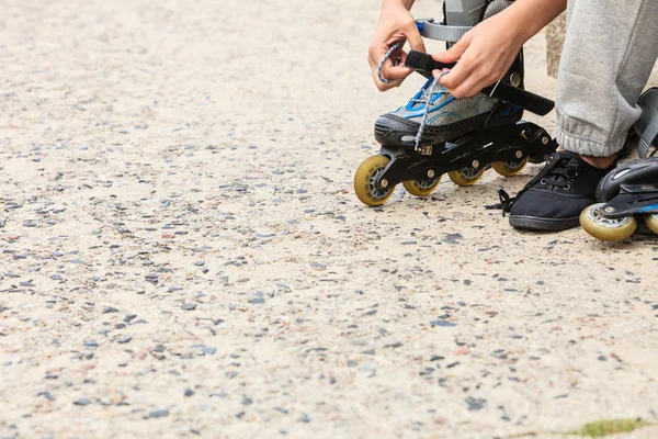
[[[524,43],[521,31],[510,21],[502,11],[480,22],[446,52],[432,55],[440,63],[457,61],[439,80],[441,86],[455,98],[466,98],[501,79]]]

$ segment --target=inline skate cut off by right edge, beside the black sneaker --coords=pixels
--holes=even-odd
[[[643,109],[634,131],[639,160],[627,162],[606,175],[597,187],[597,201],[582,211],[580,225],[594,238],[620,241],[635,233],[638,222],[658,234],[658,88],[638,100]]]

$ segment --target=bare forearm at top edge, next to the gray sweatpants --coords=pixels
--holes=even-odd
[[[567,0],[517,0],[502,13],[508,14],[515,34],[525,43],[567,9]]]

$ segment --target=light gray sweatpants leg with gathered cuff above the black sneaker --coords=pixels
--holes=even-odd
[[[558,72],[557,142],[606,157],[624,146],[658,57],[658,0],[569,0]]]

